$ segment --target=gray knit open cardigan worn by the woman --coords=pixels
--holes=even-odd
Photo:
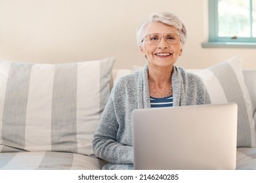
[[[182,68],[173,67],[173,106],[211,103],[202,80]],[[148,64],[123,76],[115,84],[93,139],[98,158],[108,161],[103,169],[133,168],[132,111],[150,108]]]

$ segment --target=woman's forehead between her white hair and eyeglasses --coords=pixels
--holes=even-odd
[[[171,25],[165,25],[161,22],[150,22],[145,28],[145,35],[151,34],[151,33],[179,33],[175,27]]]

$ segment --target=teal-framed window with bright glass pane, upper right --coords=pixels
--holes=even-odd
[[[209,0],[208,3],[208,44],[256,46],[256,0]]]

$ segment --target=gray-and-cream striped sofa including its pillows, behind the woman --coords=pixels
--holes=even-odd
[[[117,80],[138,69],[113,69],[114,61],[1,60],[0,169],[100,170],[106,161],[91,144],[98,120]],[[256,169],[256,69],[242,69],[236,56],[188,72],[202,78],[212,103],[238,104],[236,169]]]

